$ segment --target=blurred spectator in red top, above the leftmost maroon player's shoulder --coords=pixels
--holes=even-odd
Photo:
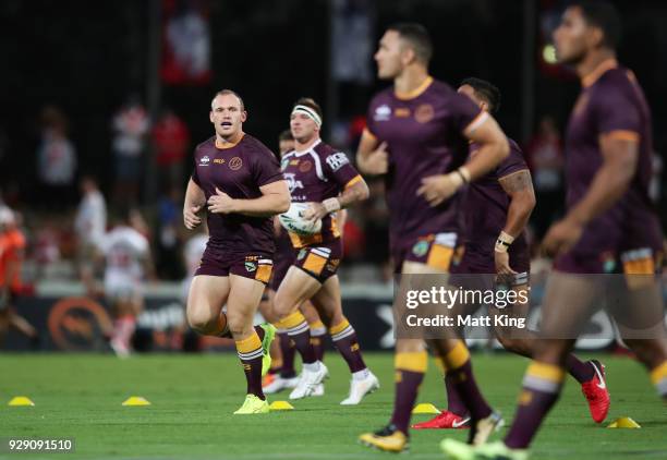
[[[153,129],[153,143],[160,178],[166,192],[183,182],[183,160],[190,146],[187,126],[171,109],[166,109]]]

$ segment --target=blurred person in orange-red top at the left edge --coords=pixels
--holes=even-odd
[[[0,207],[0,347],[10,327],[31,338],[34,348],[38,344],[37,330],[14,308],[23,292],[21,266],[25,246],[25,237],[14,213],[5,206]]]

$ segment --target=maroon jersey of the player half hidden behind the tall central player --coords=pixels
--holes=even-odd
[[[485,274],[496,271],[494,251],[496,240],[507,222],[510,197],[505,192],[500,179],[514,172],[527,170],[527,165],[517,143],[509,140],[510,154],[494,170],[484,177],[471,182],[463,201],[465,216],[465,254],[474,255],[475,267],[484,269]],[[471,144],[470,155],[474,156],[478,146]],[[522,232],[509,247],[510,266],[514,270],[513,262],[517,259],[524,268],[527,255],[525,234]],[[478,259],[478,261],[477,261]],[[525,271],[525,269],[521,269]]]

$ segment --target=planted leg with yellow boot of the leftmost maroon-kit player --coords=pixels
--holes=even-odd
[[[234,413],[267,413],[268,403],[262,391],[262,360],[264,330],[253,320],[264,293],[264,283],[252,278],[230,274],[227,299],[227,320],[247,383],[246,399]]]

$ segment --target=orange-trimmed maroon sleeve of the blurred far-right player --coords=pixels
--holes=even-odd
[[[595,102],[595,118],[601,134],[639,142],[641,117],[636,105],[620,87],[605,88]]]

